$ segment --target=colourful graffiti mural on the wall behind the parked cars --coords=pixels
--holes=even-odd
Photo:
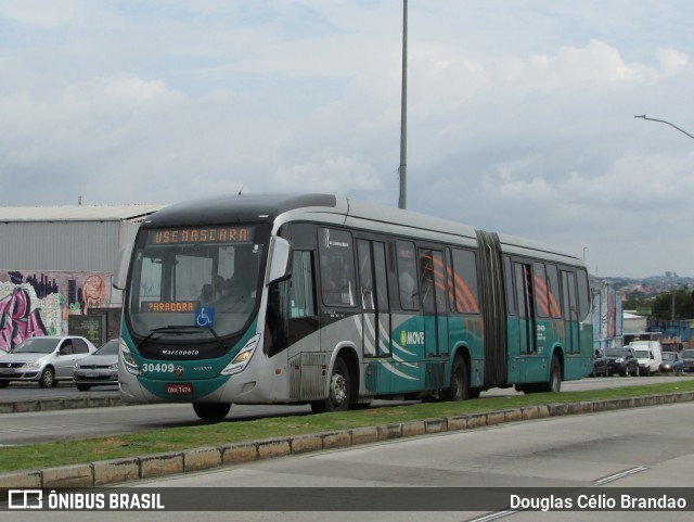
[[[111,273],[0,270],[0,349],[26,338],[67,334],[67,318],[111,306]]]

